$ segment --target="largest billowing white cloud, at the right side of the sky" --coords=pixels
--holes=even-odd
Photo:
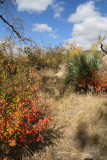
[[[79,5],[76,12],[68,18],[68,22],[74,23],[72,38],[68,41],[75,39],[76,44],[85,49],[97,42],[99,33],[104,35],[107,32],[107,17],[101,16],[93,1]]]

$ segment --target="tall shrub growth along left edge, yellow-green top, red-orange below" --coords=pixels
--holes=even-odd
[[[13,147],[43,140],[42,132],[51,120],[49,105],[39,94],[40,76],[35,67],[24,67],[1,47],[0,143]]]

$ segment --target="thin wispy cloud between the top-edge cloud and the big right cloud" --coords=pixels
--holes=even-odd
[[[54,9],[54,18],[61,17],[61,13],[64,11],[64,7],[62,6],[62,4],[63,2],[52,4],[52,8]]]

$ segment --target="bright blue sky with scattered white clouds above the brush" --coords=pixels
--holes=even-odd
[[[107,0],[16,0],[25,35],[41,46],[76,42],[88,49],[107,32]],[[2,33],[6,35],[2,25]],[[4,34],[3,34],[4,33]]]

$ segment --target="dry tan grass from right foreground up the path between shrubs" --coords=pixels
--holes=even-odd
[[[56,79],[56,73],[50,73],[43,83],[42,95],[53,104],[52,134],[47,134],[52,143],[36,151],[33,159],[106,160],[106,97],[70,93],[64,79]]]

